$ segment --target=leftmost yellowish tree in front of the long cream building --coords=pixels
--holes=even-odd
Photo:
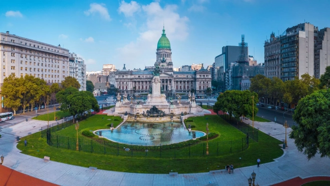
[[[15,77],[15,75],[10,75],[4,79],[4,84],[1,87],[2,95],[4,96],[5,107],[12,108],[14,111],[14,115],[16,115],[16,111],[21,106],[21,94],[20,88],[24,84],[22,79]]]

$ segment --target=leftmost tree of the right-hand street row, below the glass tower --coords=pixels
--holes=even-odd
[[[271,80],[264,75],[257,74],[250,79],[250,91],[258,94],[260,98],[267,97],[269,91],[268,87],[271,86]]]

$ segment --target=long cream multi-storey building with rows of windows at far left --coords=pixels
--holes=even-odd
[[[0,33],[0,85],[10,74],[32,75],[47,83],[61,83],[69,75],[69,50],[39,41]]]

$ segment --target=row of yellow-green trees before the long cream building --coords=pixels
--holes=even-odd
[[[2,103],[4,103],[5,107],[12,108],[14,114],[16,114],[20,106],[23,108],[23,113],[25,113],[26,108],[31,108],[32,111],[34,107],[38,107],[40,110],[41,105],[48,105],[49,100],[47,97],[68,87],[74,87],[78,90],[80,84],[71,76],[66,77],[60,86],[58,83],[47,85],[45,80],[32,75],[24,77],[10,75],[4,79],[1,87],[1,94],[4,97]]]

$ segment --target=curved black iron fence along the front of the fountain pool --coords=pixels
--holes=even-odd
[[[248,137],[247,137],[248,138]],[[47,143],[56,148],[65,148],[71,150],[79,150],[83,152],[111,154],[117,156],[135,156],[135,157],[152,157],[152,158],[194,158],[205,156],[219,156],[230,153],[237,153],[248,148],[248,139],[242,138],[232,141],[219,141],[207,143],[184,143],[174,144],[151,144],[148,143],[130,143],[123,144],[108,140],[94,140],[86,137],[77,138],[64,137],[47,132]],[[199,139],[196,139],[199,140]],[[77,148],[78,145],[78,148]]]

